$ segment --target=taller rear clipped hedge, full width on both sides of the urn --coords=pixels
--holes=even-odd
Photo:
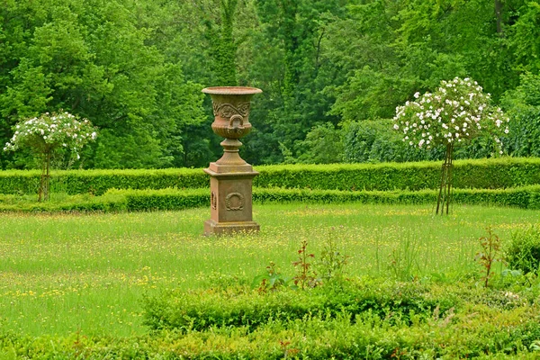
[[[257,166],[257,187],[318,190],[436,189],[440,162]],[[38,171],[0,172],[0,193],[37,193]],[[101,195],[117,189],[193,189],[208,187],[202,169],[56,171],[51,192]],[[455,161],[456,188],[502,189],[540,184],[540,158],[501,157]]]

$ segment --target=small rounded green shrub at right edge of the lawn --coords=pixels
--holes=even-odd
[[[512,234],[512,240],[507,249],[509,268],[521,270],[523,274],[538,275],[540,266],[540,225],[521,229]]]

